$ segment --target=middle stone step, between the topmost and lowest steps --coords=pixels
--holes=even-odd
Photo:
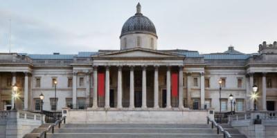
[[[210,128],[60,128],[58,133],[215,134]]]

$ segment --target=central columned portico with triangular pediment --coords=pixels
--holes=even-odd
[[[165,102],[166,108],[184,108],[182,100],[184,98],[183,60],[184,56],[142,48],[121,50],[93,57],[93,109],[157,109],[163,107]],[[98,72],[105,72],[105,82],[98,80],[99,75],[96,75]],[[174,84],[176,83],[177,86],[175,93],[179,95],[175,95],[171,90],[173,74],[177,75],[174,78],[177,79]],[[101,95],[100,89],[96,87],[99,86],[98,83],[105,83],[105,99],[103,100],[96,99]],[[162,94],[163,90],[166,90],[166,97]],[[116,95],[111,92],[116,92]],[[105,106],[100,106],[103,102]],[[115,104],[116,106],[111,107]]]

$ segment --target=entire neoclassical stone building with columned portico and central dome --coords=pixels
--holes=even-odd
[[[277,109],[277,42],[262,42],[257,53],[229,46],[225,52],[158,50],[154,23],[141,13],[127,19],[120,50],[74,55],[0,53],[0,110],[64,107],[104,110],[258,110]],[[221,100],[220,100],[220,84]],[[57,84],[54,82],[57,81]],[[17,86],[17,99],[12,98]],[[55,100],[56,92],[56,100]],[[220,104],[221,103],[221,104]]]

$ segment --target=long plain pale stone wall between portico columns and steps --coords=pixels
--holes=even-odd
[[[68,124],[206,124],[207,110],[68,110]]]

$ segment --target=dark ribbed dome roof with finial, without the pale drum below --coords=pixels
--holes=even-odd
[[[125,34],[135,33],[152,34],[154,37],[157,37],[154,23],[152,23],[148,17],[145,17],[143,14],[141,14],[140,4],[137,6],[136,14],[133,17],[127,19],[127,21],[124,23],[120,37]]]

